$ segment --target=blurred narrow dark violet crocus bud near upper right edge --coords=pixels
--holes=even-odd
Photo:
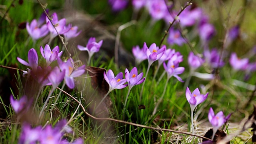
[[[238,38],[239,31],[240,31],[239,26],[234,26],[234,27],[230,28],[230,30],[227,32],[227,34],[225,36],[226,41],[224,42],[224,48],[227,48],[228,46],[230,46],[230,44],[234,40],[236,40],[236,38]]]

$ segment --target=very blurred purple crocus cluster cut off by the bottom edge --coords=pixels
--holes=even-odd
[[[24,123],[20,133],[19,144],[83,144],[83,140],[78,138],[70,143],[62,139],[65,133],[71,133],[72,129],[67,125],[66,120],[60,120],[54,128],[47,125],[45,128],[36,126],[32,128],[30,124]]]

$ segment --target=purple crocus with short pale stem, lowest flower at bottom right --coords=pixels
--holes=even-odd
[[[229,114],[227,117],[224,116],[223,112],[220,111],[216,115],[214,114],[214,111],[212,108],[210,108],[208,113],[208,120],[212,124],[213,127],[213,134],[212,134],[212,140],[214,139],[215,133],[217,132],[218,128],[222,126],[227,120],[230,118],[231,114]]]

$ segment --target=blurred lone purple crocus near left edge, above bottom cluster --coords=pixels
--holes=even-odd
[[[22,96],[20,98],[20,100],[14,100],[12,94],[10,96],[10,103],[12,105],[12,108],[14,110],[14,112],[16,112],[17,114],[20,113],[22,110],[24,109],[28,109],[28,98],[26,95]]]

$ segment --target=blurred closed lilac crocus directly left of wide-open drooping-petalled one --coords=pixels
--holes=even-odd
[[[60,69],[56,66],[48,75],[49,81],[52,83],[52,89],[57,88],[57,86],[64,80],[65,70],[60,72]]]

